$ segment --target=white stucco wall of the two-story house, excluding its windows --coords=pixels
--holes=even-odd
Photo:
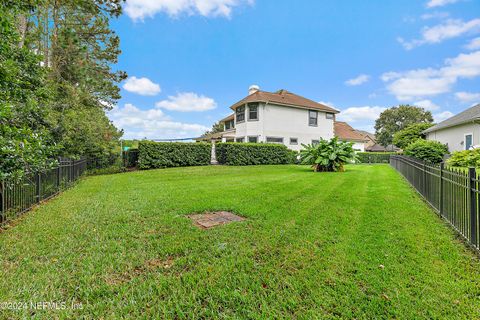
[[[245,122],[237,123],[237,138],[257,136],[258,142],[266,142],[267,137],[283,138],[283,144],[292,150],[300,150],[301,144],[310,144],[312,140],[333,138],[333,119],[327,119],[326,113],[318,111],[318,125],[308,125],[308,109],[293,108],[275,104],[261,103],[258,106],[259,119],[248,120],[248,108],[245,110]],[[290,138],[297,138],[297,144],[290,144]]]

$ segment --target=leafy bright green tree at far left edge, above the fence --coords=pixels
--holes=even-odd
[[[24,46],[23,22],[17,25],[33,5],[0,2],[0,179],[45,167],[55,149],[42,108],[45,70],[41,57]]]

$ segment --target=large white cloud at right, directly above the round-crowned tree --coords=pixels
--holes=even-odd
[[[480,76],[480,51],[446,59],[444,67],[387,72],[381,76],[398,100],[413,100],[450,92],[460,78]]]

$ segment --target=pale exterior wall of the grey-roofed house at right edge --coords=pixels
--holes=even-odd
[[[427,140],[439,141],[448,145],[448,150],[465,150],[465,135],[473,134],[473,145],[480,145],[480,125],[466,123],[455,127],[445,128],[427,133]]]

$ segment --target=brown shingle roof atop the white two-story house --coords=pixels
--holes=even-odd
[[[291,93],[283,89],[273,93],[258,90],[252,93],[251,95],[243,98],[242,100],[238,101],[230,108],[235,110],[237,107],[248,102],[265,102],[265,103],[268,102],[268,103],[286,105],[286,106],[302,108],[302,109],[314,109],[314,110],[331,112],[331,113],[339,113],[339,111],[336,109],[330,108],[324,104],[301,97],[299,95],[296,95],[294,93]]]

